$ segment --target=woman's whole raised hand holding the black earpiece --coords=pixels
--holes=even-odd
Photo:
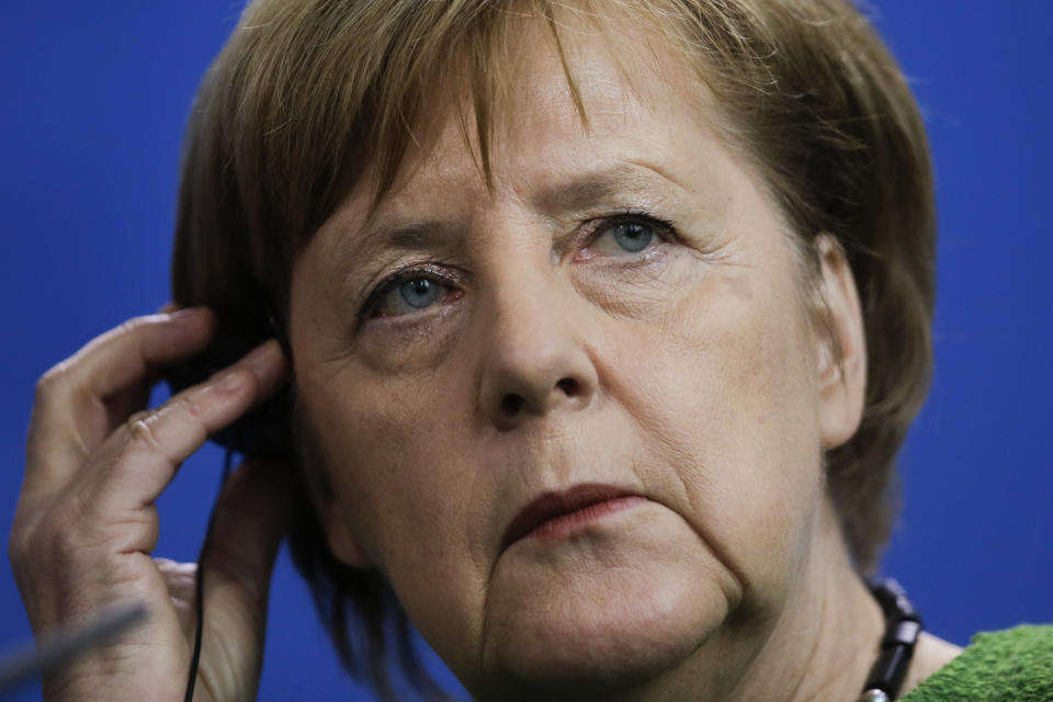
[[[39,636],[116,602],[138,600],[149,610],[144,624],[45,676],[45,700],[183,699],[196,565],[150,556],[160,529],[154,502],[211,433],[265,399],[285,375],[272,340],[141,410],[157,370],[203,351],[215,325],[203,308],[133,319],[37,384],[9,543],[33,631]],[[248,463],[217,506],[195,700],[256,698],[290,475]]]

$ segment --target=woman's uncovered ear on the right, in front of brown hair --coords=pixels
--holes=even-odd
[[[845,250],[830,235],[816,237],[819,259],[818,400],[824,449],[846,443],[859,429],[867,392],[867,338],[856,280]]]

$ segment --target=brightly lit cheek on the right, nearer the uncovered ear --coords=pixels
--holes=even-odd
[[[755,591],[803,559],[823,497],[794,290],[770,271],[715,272],[609,347],[613,392],[649,444],[642,479]]]

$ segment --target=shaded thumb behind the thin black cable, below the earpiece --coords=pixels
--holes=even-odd
[[[271,571],[295,492],[291,465],[247,461],[216,505],[204,563],[201,675],[231,699],[254,699],[263,659]],[[231,689],[233,688],[233,689]]]

